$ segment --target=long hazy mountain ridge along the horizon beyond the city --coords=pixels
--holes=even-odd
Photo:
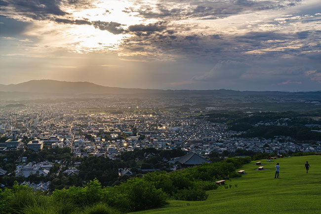
[[[235,91],[235,90],[159,90],[159,89],[140,89],[140,88],[119,88],[97,85],[91,82],[67,82],[57,80],[31,80],[19,84],[0,84],[1,92],[24,92],[38,94],[190,94],[190,95],[300,95],[300,94],[318,94],[321,92],[280,92],[280,91]]]

